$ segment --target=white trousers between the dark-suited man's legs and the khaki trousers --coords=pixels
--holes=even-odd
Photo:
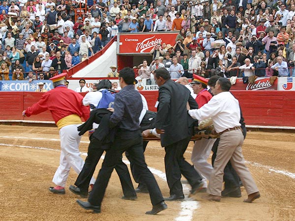
[[[216,139],[207,138],[196,140],[192,152],[191,161],[198,173],[203,176],[205,188],[207,188],[207,181],[209,181],[213,169],[212,165],[207,162],[207,159],[215,141]]]

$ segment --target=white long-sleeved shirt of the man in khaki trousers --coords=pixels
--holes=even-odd
[[[217,133],[241,126],[239,123],[241,115],[238,101],[229,91],[213,96],[207,104],[200,109],[189,110],[188,114],[199,121],[211,117]]]

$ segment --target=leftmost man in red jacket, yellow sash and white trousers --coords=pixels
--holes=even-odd
[[[66,73],[57,75],[49,80],[53,81],[54,89],[44,93],[36,104],[23,111],[23,116],[35,115],[49,110],[59,128],[60,136],[60,162],[53,177],[56,187],[50,187],[49,191],[64,194],[64,186],[73,167],[76,173],[80,173],[84,161],[80,157],[79,143],[81,137],[77,127],[82,124],[81,117],[89,118],[89,108],[83,106],[83,96],[68,89],[65,86]],[[90,184],[94,184],[92,178]]]

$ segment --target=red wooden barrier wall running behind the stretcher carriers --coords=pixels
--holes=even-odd
[[[151,111],[158,91],[141,91]],[[295,91],[232,91],[239,100],[246,125],[295,127]],[[84,93],[83,93],[84,94]],[[37,102],[39,92],[0,92],[0,121],[53,121],[50,111],[24,118],[22,111]]]

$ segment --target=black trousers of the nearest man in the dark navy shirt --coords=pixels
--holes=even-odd
[[[139,132],[139,134],[141,133]],[[139,182],[147,185],[152,205],[156,205],[164,200],[160,188],[145,162],[143,138],[141,135],[132,139],[123,139],[120,136],[116,136],[114,145],[106,153],[93,190],[89,195],[88,201],[92,205],[101,205],[113,169],[118,165],[122,153],[126,150],[133,159],[135,172],[140,174],[138,177]]]

